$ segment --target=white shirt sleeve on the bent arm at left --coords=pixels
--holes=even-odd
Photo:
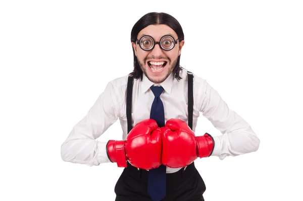
[[[65,162],[98,166],[110,163],[106,153],[107,142],[96,140],[118,119],[119,104],[112,83],[99,95],[95,103],[72,129],[61,145]]]

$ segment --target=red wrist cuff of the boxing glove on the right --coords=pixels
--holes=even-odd
[[[202,157],[209,157],[212,155],[215,147],[214,138],[206,133],[204,136],[198,136],[197,139],[197,156]]]

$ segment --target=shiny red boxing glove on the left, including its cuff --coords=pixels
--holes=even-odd
[[[161,129],[156,120],[145,119],[136,124],[126,140],[110,140],[107,154],[118,167],[127,167],[126,160],[137,168],[150,170],[161,165]]]

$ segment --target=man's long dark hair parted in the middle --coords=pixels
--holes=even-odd
[[[171,15],[167,13],[147,13],[144,16],[142,16],[133,26],[131,30],[131,36],[130,41],[135,42],[138,36],[138,33],[145,27],[149,25],[155,25],[155,24],[165,24],[172,28],[178,35],[178,38],[180,41],[184,40],[184,33],[182,30],[182,27],[180,23]],[[133,49],[133,55],[134,55],[134,69],[130,73],[133,75],[134,78],[138,79],[143,76],[143,71],[140,68],[140,65],[138,63],[137,57],[135,55],[135,51]],[[178,56],[177,63],[172,71],[174,78],[177,78],[178,80],[181,79],[179,73],[180,73],[180,56]]]

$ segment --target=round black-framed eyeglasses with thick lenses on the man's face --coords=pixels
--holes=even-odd
[[[144,51],[153,50],[156,44],[159,44],[160,48],[165,51],[172,50],[175,45],[180,41],[171,35],[164,35],[161,37],[160,42],[155,42],[154,38],[150,35],[143,35],[139,40],[137,39],[137,44],[140,45],[140,48]]]

